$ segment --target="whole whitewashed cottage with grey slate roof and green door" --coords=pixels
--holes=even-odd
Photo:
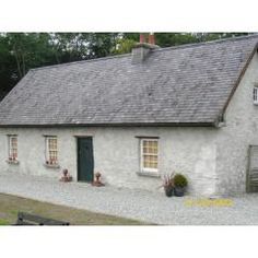
[[[258,35],[32,69],[0,104],[0,173],[255,191]],[[257,165],[256,165],[257,164]]]

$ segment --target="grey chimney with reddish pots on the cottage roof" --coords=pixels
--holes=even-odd
[[[132,63],[143,62],[153,49],[159,48],[155,45],[155,37],[153,33],[149,34],[149,42],[145,43],[145,35],[140,34],[140,43],[132,48]]]

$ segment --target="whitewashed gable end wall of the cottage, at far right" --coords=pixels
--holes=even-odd
[[[246,70],[225,113],[225,126],[218,133],[216,191],[246,191],[248,146],[258,145],[258,106],[253,103],[254,85],[258,83],[258,55]]]

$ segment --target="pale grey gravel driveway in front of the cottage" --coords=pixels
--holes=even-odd
[[[258,225],[258,194],[231,198],[231,207],[187,206],[191,197],[162,192],[92,187],[14,173],[0,174],[0,192],[86,209],[112,215],[171,225]]]

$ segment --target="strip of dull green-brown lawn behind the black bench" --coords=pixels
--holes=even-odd
[[[143,225],[143,222],[94,213],[48,202],[35,201],[0,194],[0,225],[15,223],[17,212],[28,212],[45,218],[69,221],[71,225]]]

